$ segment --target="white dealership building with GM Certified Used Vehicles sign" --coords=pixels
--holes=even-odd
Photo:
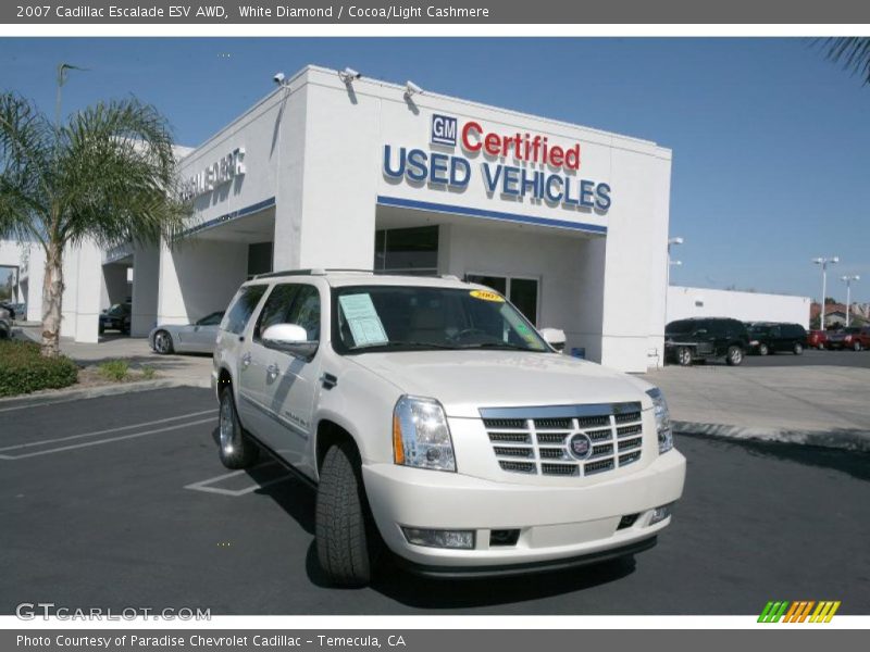
[[[671,151],[655,142],[309,66],[179,156],[185,237],[67,251],[62,335],[97,341],[126,300],[144,336],[257,274],[355,268],[480,281],[589,360],[662,363]],[[40,253],[23,281],[41,289]]]

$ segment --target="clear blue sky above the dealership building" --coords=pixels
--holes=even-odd
[[[870,86],[809,39],[1,39],[0,90],[53,115],[130,93],[196,146],[306,64],[654,140],[673,151],[671,283],[870,301]]]

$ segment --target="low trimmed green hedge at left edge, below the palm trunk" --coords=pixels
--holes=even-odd
[[[60,389],[77,379],[78,366],[69,358],[42,358],[39,344],[0,340],[0,397]]]

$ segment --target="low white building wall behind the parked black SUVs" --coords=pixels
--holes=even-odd
[[[671,286],[668,321],[686,317],[733,317],[742,322],[786,322],[809,328],[809,297],[735,292]]]

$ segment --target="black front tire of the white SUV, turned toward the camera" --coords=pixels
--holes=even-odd
[[[318,560],[330,581],[362,587],[372,578],[380,535],[365,499],[360,455],[349,441],[326,451],[318,485]]]

